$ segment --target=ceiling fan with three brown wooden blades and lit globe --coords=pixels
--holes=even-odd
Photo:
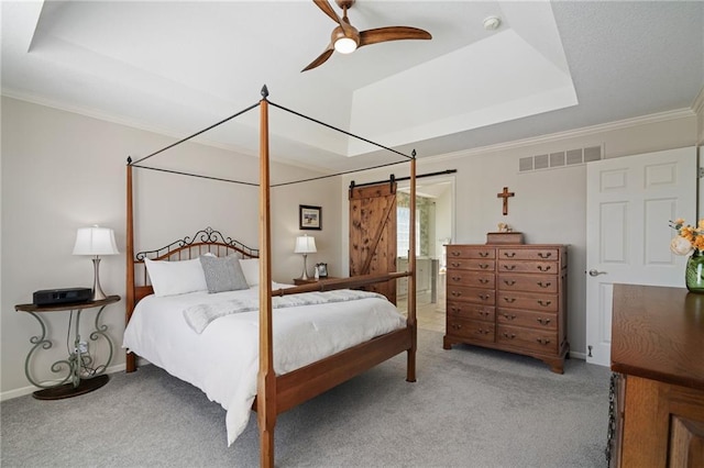
[[[354,4],[355,0],[334,0],[338,7],[342,9],[342,18],[338,16],[328,0],[312,1],[323,13],[330,16],[332,21],[338,23],[338,26],[332,30],[328,48],[301,71],[307,71],[324,64],[334,51],[341,54],[350,54],[359,47],[380,42],[432,38],[429,32],[410,26],[387,26],[360,32],[350,24],[350,20],[348,20],[348,9]]]

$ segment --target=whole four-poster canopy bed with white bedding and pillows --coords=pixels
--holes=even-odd
[[[415,291],[414,230],[407,271],[297,287],[272,281],[270,104],[288,111],[267,100],[266,87],[258,104],[245,110],[260,109],[258,249],[208,227],[135,253],[133,170],[150,169],[140,163],[202,132],[140,160],[128,159],[127,166],[127,371],[136,370],[139,355],[200,388],[228,411],[229,444],[246,426],[250,410],[255,410],[262,466],[274,465],[277,414],[403,352],[406,380],[415,381],[417,338],[414,294],[408,296],[404,317],[383,296],[359,290],[408,277],[408,290]],[[414,226],[416,159],[404,156],[410,164]],[[230,279],[233,270],[242,271],[237,280]],[[199,275],[205,275],[205,283]],[[233,304],[240,309],[233,311]]]

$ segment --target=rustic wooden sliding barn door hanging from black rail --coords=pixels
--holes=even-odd
[[[350,276],[396,271],[396,182],[350,189]],[[396,281],[365,288],[396,303]]]

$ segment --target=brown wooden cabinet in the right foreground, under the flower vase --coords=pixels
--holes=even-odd
[[[614,285],[612,467],[704,467],[704,296]]]

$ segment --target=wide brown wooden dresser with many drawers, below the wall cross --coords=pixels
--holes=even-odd
[[[562,374],[566,339],[564,245],[447,246],[443,347],[465,343],[532,356]]]

